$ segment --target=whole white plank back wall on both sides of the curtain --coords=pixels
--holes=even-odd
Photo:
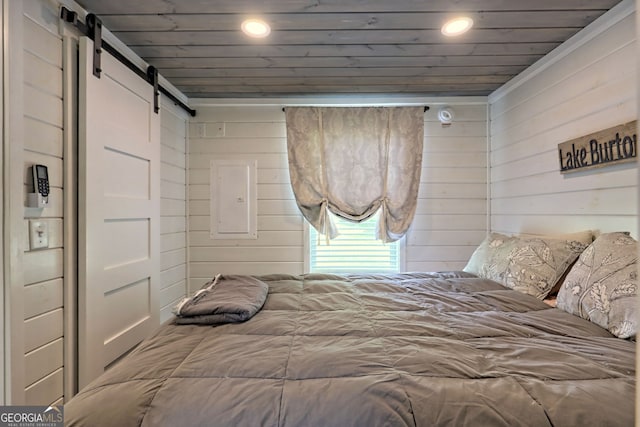
[[[425,114],[422,188],[407,239],[407,270],[462,268],[486,233],[486,106],[453,108],[457,120],[447,128],[436,119],[437,107]],[[189,134],[190,290],[216,273],[303,273],[303,219],[289,184],[281,107],[199,107]],[[209,237],[209,168],[218,158],[258,160],[257,240]]]

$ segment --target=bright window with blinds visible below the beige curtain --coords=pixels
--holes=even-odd
[[[380,211],[378,211],[380,212]],[[340,235],[327,243],[309,226],[309,271],[312,273],[397,273],[400,243],[375,239],[379,213],[361,223],[333,216]],[[318,236],[320,238],[318,238]]]

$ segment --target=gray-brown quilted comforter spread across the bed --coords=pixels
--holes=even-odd
[[[635,343],[467,273],[263,276],[244,323],[170,324],[69,426],[632,426]]]

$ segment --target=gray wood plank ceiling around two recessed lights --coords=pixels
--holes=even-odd
[[[488,95],[620,0],[77,0],[191,98]],[[442,24],[465,14],[458,38]],[[240,23],[272,28],[252,39]]]

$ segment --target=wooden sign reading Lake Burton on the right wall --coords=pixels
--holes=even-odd
[[[637,120],[558,144],[560,172],[636,161]]]

